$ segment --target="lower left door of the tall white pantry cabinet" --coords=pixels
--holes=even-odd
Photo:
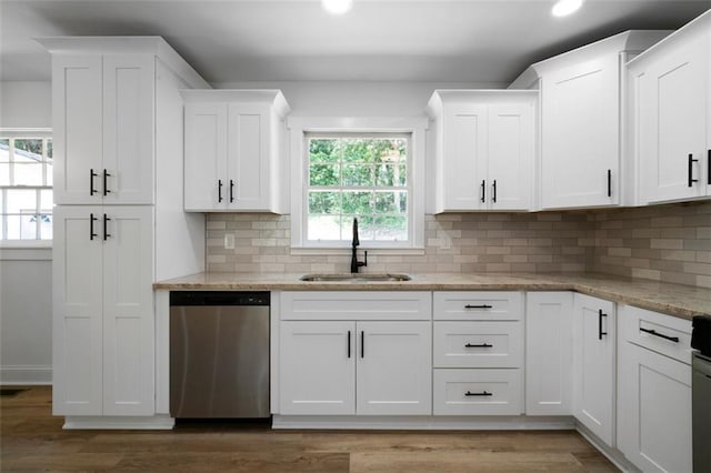
[[[101,215],[101,207],[54,208],[52,411],[56,415],[102,412]],[[94,236],[90,238],[92,227]]]

